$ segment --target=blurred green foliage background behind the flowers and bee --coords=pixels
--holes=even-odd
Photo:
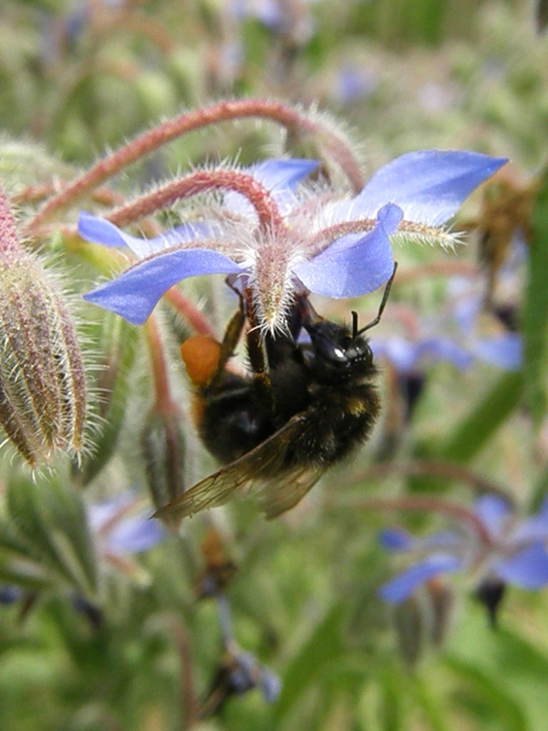
[[[228,0],[126,6],[125,20],[113,22],[115,6],[99,0],[3,1],[0,175],[8,194],[48,183],[52,175],[69,178],[162,117],[222,96],[318,103],[352,130],[369,171],[416,148],[468,148],[509,156],[523,184],[544,175],[521,303],[522,372],[501,375],[474,366],[456,374],[437,366],[395,455],[397,461],[427,457],[468,466],[526,508],[536,506],[548,488],[548,37],[536,32],[533,3],[295,0],[287,7],[302,12],[310,26],[300,33],[294,23],[284,34],[253,17],[234,18]],[[85,7],[88,15],[78,15]],[[360,89],[351,98],[343,93],[346,71]],[[118,186],[133,192],[206,159],[237,156],[246,163],[264,156],[265,145],[277,151],[283,142],[268,124],[208,129],[172,143]],[[473,216],[478,206],[476,197],[463,216]],[[27,213],[22,205],[21,219]],[[70,215],[74,219],[75,211]],[[53,238],[49,249],[73,289],[96,279],[93,247],[87,260],[61,239]],[[402,254],[412,264],[455,256],[473,262],[474,241],[457,254]],[[205,286],[187,290],[189,297],[218,300]],[[395,296],[427,309],[440,293],[435,285],[406,284]],[[327,315],[345,317],[348,303],[338,311],[330,303],[323,307]],[[375,307],[373,299],[359,304],[362,311]],[[94,322],[92,308],[82,314],[99,357],[115,352],[121,363],[115,399],[101,414],[107,426],[95,436],[96,461],[85,463],[80,475],[85,491],[105,496],[144,484],[139,417],[148,407],[150,382],[134,328]],[[184,405],[183,375],[173,377]],[[338,469],[316,488],[332,499],[311,496],[288,518],[268,524],[251,507],[237,506],[221,523],[238,566],[227,592],[237,641],[281,675],[283,689],[274,705],[256,691],[229,700],[220,716],[197,727],[533,731],[546,724],[546,592],[510,591],[492,630],[471,587],[463,585],[441,647],[423,613],[403,618],[411,621],[403,635],[395,631],[402,618],[376,596],[394,570],[376,531],[398,520],[421,529],[425,520],[345,508],[338,495],[387,495],[402,486],[462,501],[472,494],[432,477],[360,480],[386,434],[379,431],[363,450],[363,463]],[[191,433],[187,439],[189,472],[204,474],[209,463]],[[220,647],[215,608],[194,600],[203,523],[191,520],[182,539],[169,537],[142,557],[138,575],[104,579],[69,466],[33,482],[7,450],[4,455],[0,574],[4,583],[20,577],[20,559],[37,598],[24,612],[20,603],[0,607],[1,727],[186,728],[189,698],[205,693]],[[53,534],[63,535],[62,545]],[[70,596],[76,588],[102,607],[99,629],[75,613]],[[413,667],[402,658],[402,637],[413,645],[408,654],[420,656]]]

